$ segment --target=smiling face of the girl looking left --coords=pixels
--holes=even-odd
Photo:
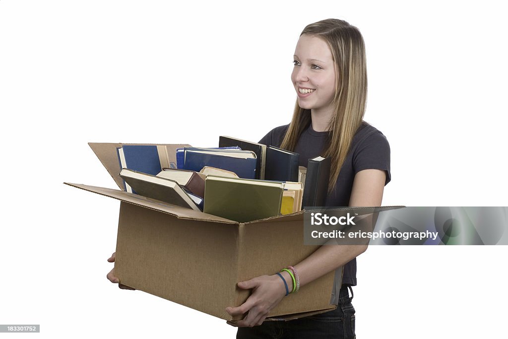
[[[333,116],[335,66],[328,44],[321,38],[302,35],[295,50],[295,67],[291,80],[301,108],[313,114]]]

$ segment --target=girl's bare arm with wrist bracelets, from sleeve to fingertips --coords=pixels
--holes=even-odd
[[[358,172],[353,182],[350,206],[380,206],[383,199],[386,173],[381,170],[368,169]],[[345,265],[347,262],[365,252],[367,245],[321,246],[300,263],[294,265],[300,276],[300,287],[305,286],[320,276]],[[292,285],[291,276],[281,273],[288,286]],[[269,312],[282,300],[285,288],[280,277],[262,275],[245,282],[238,287],[252,289],[252,294],[238,307],[227,307],[230,315],[248,314],[238,322],[238,326],[261,325]]]

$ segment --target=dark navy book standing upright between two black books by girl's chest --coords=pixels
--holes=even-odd
[[[265,180],[298,181],[298,153],[275,146],[266,149]]]

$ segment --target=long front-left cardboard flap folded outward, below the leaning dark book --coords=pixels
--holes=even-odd
[[[76,187],[78,189],[82,189],[85,191],[97,193],[100,195],[104,195],[106,197],[118,199],[120,201],[128,202],[130,204],[142,206],[145,208],[153,209],[156,211],[160,211],[163,213],[174,215],[175,217],[179,219],[191,219],[191,220],[200,220],[200,221],[209,221],[209,222],[218,222],[218,223],[224,223],[224,224],[236,224],[237,222],[216,217],[212,214],[207,214],[199,211],[195,211],[190,208],[180,207],[172,204],[168,204],[159,200],[150,199],[143,197],[138,194],[128,193],[125,191],[119,191],[119,190],[112,190],[107,189],[104,187],[96,187],[96,186],[88,186],[84,184],[79,183],[69,183],[64,182],[65,184]]]

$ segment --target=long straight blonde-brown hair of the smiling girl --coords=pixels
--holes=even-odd
[[[332,158],[328,192],[335,188],[340,168],[361,126],[367,102],[367,66],[365,43],[360,31],[344,20],[326,19],[307,25],[300,36],[323,39],[332,52],[336,84],[333,115],[327,143],[321,156]],[[296,101],[291,124],[282,140],[281,148],[293,151],[298,139],[310,125],[310,110]]]

